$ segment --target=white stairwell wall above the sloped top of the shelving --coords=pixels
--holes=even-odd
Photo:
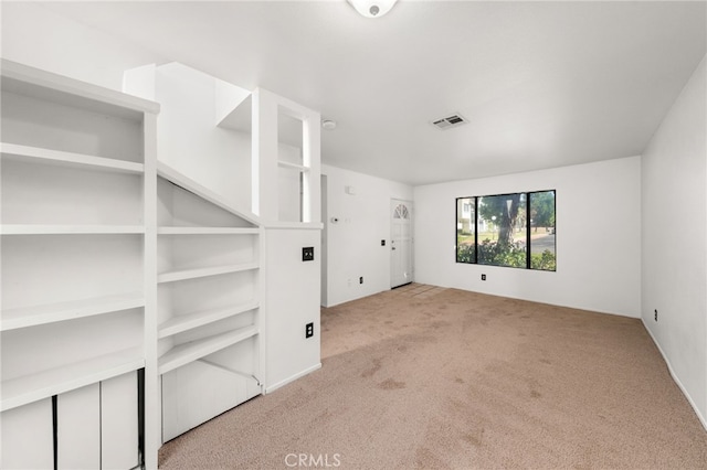
[[[251,135],[217,126],[219,93],[249,92],[177,62],[147,65],[125,73],[124,92],[160,104],[157,158],[251,212]],[[152,88],[152,89],[149,89]],[[239,100],[234,100],[235,107]]]

